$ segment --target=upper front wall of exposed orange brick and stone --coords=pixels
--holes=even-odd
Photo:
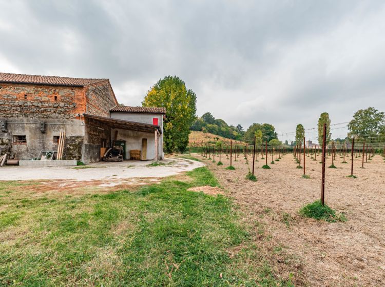
[[[0,118],[78,118],[85,110],[84,89],[0,83]],[[55,98],[56,97],[56,98]]]

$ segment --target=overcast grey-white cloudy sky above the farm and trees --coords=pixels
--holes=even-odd
[[[109,78],[130,106],[177,75],[197,94],[198,115],[209,111],[245,129],[268,122],[279,133],[316,127],[321,112],[335,124],[361,108],[385,111],[382,0],[0,0],[0,7],[2,72]]]

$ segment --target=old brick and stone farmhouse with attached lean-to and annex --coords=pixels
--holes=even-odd
[[[118,105],[109,79],[0,73],[0,155],[29,160],[57,151],[64,131],[63,159],[96,162],[121,145],[124,159],[140,150],[142,160],[157,160],[165,113]]]

